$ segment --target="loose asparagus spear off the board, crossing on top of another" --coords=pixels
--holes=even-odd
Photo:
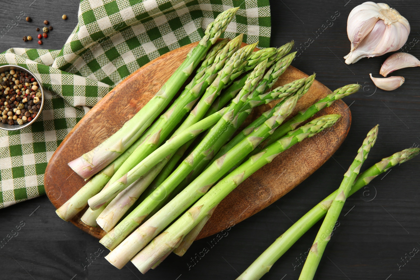
[[[325,247],[328,241],[331,239],[331,233],[336,225],[338,217],[343,209],[344,202],[349,196],[350,189],[360,172],[363,162],[365,162],[367,155],[369,154],[370,148],[373,147],[378,136],[378,126],[372,128],[367,137],[363,141],[362,147],[357,151],[358,154],[349,170],[344,174],[344,179],[337,190],[337,195],[333,199],[330,209],[325,216],[325,219],[321,225],[320,230],[315,238],[315,241],[308,253],[308,257],[303,265],[302,272],[300,273],[299,279],[310,280],[313,279],[315,272],[318,268],[318,264],[321,260]]]

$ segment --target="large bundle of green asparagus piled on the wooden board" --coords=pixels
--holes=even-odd
[[[81,220],[107,232],[100,243],[111,250],[105,258],[115,267],[131,260],[144,273],[171,251],[184,254],[236,186],[340,116],[302,123],[360,89],[356,84],[341,87],[283,123],[315,74],[273,89],[296,55],[288,54],[294,43],[254,51],[257,43],[240,48],[242,34],[218,41],[237,9],[220,13],[209,24],[203,39],[142,110],[69,163],[81,177],[92,178],[56,212],[68,221],[89,205]],[[273,108],[235,136],[254,107],[273,100]]]

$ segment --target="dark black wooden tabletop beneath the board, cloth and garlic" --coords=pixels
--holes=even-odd
[[[146,275],[131,263],[117,270],[103,258],[106,250],[96,259],[92,257],[93,262],[87,262],[87,258],[98,256],[101,251],[98,249],[103,248],[95,238],[60,220],[46,196],[25,201],[0,210],[1,239],[24,222],[18,236],[0,249],[0,278],[235,279],[292,222],[339,186],[367,131],[375,124],[381,125],[380,134],[365,167],[404,148],[418,146],[420,68],[398,71],[396,75],[406,79],[404,85],[393,92],[385,92],[375,89],[369,73],[379,77],[381,64],[388,55],[364,58],[354,65],[344,64],[342,57],[350,47],[346,36],[347,16],[362,2],[271,1],[273,47],[294,39],[300,55],[293,65],[306,73],[316,72],[317,79],[332,90],[350,83],[363,86],[360,93],[345,99],[352,110],[353,121],[344,144],[301,185],[257,215],[232,227],[215,245],[214,242],[210,245],[212,237],[197,241],[184,257],[172,254]],[[420,58],[420,44],[408,45],[420,38],[419,2],[390,0],[389,4],[408,19],[411,33],[406,51]],[[48,19],[54,30],[42,46],[37,44],[35,37],[32,42],[23,42],[24,35],[37,33],[33,24],[21,21],[0,39],[0,52],[10,47],[60,49],[77,23],[78,3],[75,0],[2,1],[1,5],[1,29],[23,10],[34,21]],[[63,13],[68,15],[67,21],[61,19]],[[327,23],[334,15],[336,19]],[[323,30],[323,24],[329,26]],[[312,43],[308,46],[305,42]],[[416,158],[392,168],[386,175],[376,178],[369,188],[347,200],[316,279],[419,279],[420,255],[407,258],[405,265],[399,267],[404,264],[402,258],[406,254],[413,248],[420,248],[419,163],[420,158]],[[312,245],[319,225],[282,256],[263,279],[297,279],[302,269],[300,258]],[[209,251],[203,256],[204,247]]]

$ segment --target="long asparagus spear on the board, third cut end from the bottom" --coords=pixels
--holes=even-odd
[[[168,178],[166,178],[165,181],[152,194],[150,194],[150,196],[144,199],[144,201],[142,201],[142,203],[140,203],[134,211],[116,225],[114,230],[111,230],[100,240],[105,247],[112,250],[121,243],[121,241],[123,241],[123,239],[128,236],[129,233],[131,233],[131,231],[142,222],[142,220],[144,220],[144,217],[147,217],[150,211],[157,207],[158,202],[165,199],[165,197],[174,190],[178,183],[180,183],[193,170],[194,166],[208,155],[210,148],[214,145],[215,141],[217,141],[218,136],[221,135],[228,126],[236,122],[236,115],[239,112],[239,108],[243,106],[248,94],[255,89],[259,79],[262,78],[266,63],[267,60],[263,61],[254,69],[254,71],[252,71],[247,84],[239,92],[238,96],[231,105],[226,108],[227,113],[223,115],[213,128],[210,129],[205,139],[203,139],[191,152],[191,154],[181,162],[176,170],[169,175]],[[127,262],[128,261],[129,259]]]

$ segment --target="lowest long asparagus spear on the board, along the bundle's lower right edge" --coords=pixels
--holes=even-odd
[[[131,262],[140,270],[140,272],[147,272],[147,270],[149,270],[155,262],[167,254],[168,251],[175,248],[183,236],[189,233],[189,231],[191,231],[194,226],[196,226],[206,215],[208,215],[209,212],[212,211],[223,198],[233,191],[234,188],[236,188],[241,182],[252,175],[252,173],[265,164],[271,162],[279,153],[285,151],[303,139],[315,135],[324,128],[331,126],[338,119],[339,115],[327,115],[318,118],[309,124],[302,126],[296,131],[292,131],[286,137],[270,145],[270,147],[265,149],[264,152],[256,154],[254,157],[244,162],[223,180],[221,180],[216,186],[211,188],[205,196],[199,199],[199,201],[197,201],[187,212],[185,212],[184,215],[170,225],[164,233],[153,239],[148,246],[131,259]],[[155,233],[155,235],[157,235],[157,233]],[[130,243],[127,243],[127,246],[129,244]],[[123,245],[123,243],[121,243],[121,245]],[[109,256],[114,251],[105,257],[108,261],[110,260]]]

